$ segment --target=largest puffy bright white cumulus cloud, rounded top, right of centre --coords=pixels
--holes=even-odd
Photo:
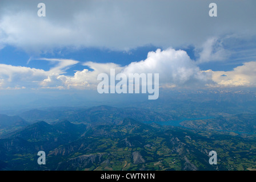
[[[208,81],[208,75],[200,71],[185,51],[172,48],[149,52],[147,59],[127,65],[123,73],[159,73],[161,84],[190,85]]]

